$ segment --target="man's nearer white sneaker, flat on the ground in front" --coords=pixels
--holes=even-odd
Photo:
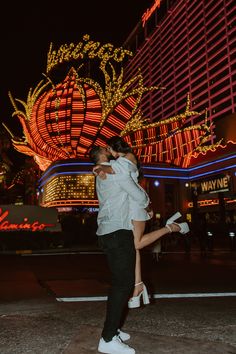
[[[119,336],[114,336],[110,342],[105,342],[101,338],[98,344],[98,351],[106,354],[135,354],[135,350],[123,343]]]

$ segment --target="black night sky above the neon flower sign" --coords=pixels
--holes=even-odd
[[[63,0],[62,0],[63,1]],[[8,97],[26,100],[46,72],[51,42],[78,43],[84,34],[102,44],[123,45],[154,0],[9,2],[1,10],[1,123],[22,135]],[[4,5],[5,6],[5,5]],[[1,124],[1,130],[4,129]],[[16,152],[17,153],[17,152]]]

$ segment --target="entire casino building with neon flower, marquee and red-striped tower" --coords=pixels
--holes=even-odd
[[[10,95],[24,131],[13,145],[42,171],[40,206],[96,208],[88,152],[120,135],[142,163],[157,218],[180,210],[190,221],[236,222],[235,17],[233,0],[156,0],[122,48],[88,35],[51,46],[26,109]],[[102,82],[74,69],[95,59]]]

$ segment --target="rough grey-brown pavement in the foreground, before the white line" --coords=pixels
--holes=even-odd
[[[158,300],[128,313],[136,354],[235,354],[236,299]],[[0,304],[1,354],[97,354],[105,302]]]

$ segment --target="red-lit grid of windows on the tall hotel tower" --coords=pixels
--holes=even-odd
[[[153,91],[146,96],[149,105],[145,100],[144,116],[156,121],[180,113],[188,91],[192,108],[208,108],[212,122],[224,112],[235,112],[235,20],[233,0],[174,3],[126,68],[129,76],[138,67],[148,67],[147,85],[169,88],[169,92]],[[218,85],[222,88],[213,92]],[[217,96],[220,100],[216,102]]]

